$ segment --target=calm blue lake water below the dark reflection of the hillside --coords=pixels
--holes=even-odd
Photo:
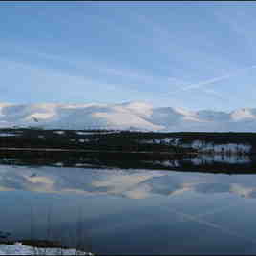
[[[0,165],[1,231],[104,254],[255,254],[256,176]]]

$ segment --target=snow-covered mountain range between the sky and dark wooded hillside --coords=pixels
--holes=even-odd
[[[0,127],[56,129],[145,129],[152,131],[254,132],[256,108],[230,113],[181,108],[154,108],[145,102],[121,104],[0,103]]]

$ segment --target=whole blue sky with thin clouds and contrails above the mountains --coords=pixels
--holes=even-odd
[[[0,102],[256,107],[256,2],[0,3]]]

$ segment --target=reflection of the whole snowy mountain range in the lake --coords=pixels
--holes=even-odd
[[[0,165],[0,190],[116,195],[143,199],[154,195],[229,193],[256,198],[252,175],[213,175],[150,170],[14,167]]]

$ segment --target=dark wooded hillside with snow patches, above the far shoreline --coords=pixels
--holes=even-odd
[[[195,142],[201,145],[196,147]],[[228,145],[229,144],[229,145]],[[232,144],[232,145],[230,145]],[[117,130],[0,129],[0,148],[74,149],[119,152],[256,153],[256,133],[157,133]],[[226,146],[226,147],[225,147]],[[243,147],[249,149],[245,151]],[[231,152],[231,151],[232,152]],[[236,150],[236,148],[235,148]],[[216,151],[216,152],[215,152]],[[220,147],[219,147],[220,151]],[[220,152],[219,152],[220,153]]]

